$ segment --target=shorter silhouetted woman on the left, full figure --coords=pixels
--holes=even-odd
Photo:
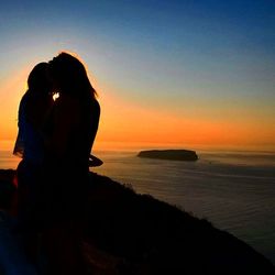
[[[18,117],[18,138],[13,154],[22,157],[16,174],[19,185],[19,224],[26,249],[35,239],[41,168],[45,156],[43,125],[53,107],[48,64],[40,63],[29,75],[28,90],[22,97]],[[34,241],[35,242],[35,241]]]

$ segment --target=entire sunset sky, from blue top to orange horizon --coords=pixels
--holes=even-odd
[[[0,146],[30,70],[65,50],[99,94],[96,148],[275,150],[274,30],[273,0],[1,1]]]

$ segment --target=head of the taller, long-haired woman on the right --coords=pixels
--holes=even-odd
[[[50,62],[51,75],[55,88],[61,94],[74,97],[95,97],[96,90],[92,88],[84,64],[75,56],[62,52]]]

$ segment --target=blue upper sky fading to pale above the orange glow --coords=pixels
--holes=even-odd
[[[1,1],[0,80],[69,50],[142,108],[230,120],[233,107],[272,127],[274,14],[272,0]]]

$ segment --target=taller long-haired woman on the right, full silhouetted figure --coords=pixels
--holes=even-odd
[[[46,222],[51,222],[46,233],[48,254],[56,274],[81,274],[76,253],[77,235],[86,210],[89,155],[98,130],[100,106],[78,58],[61,53],[50,66],[59,97],[48,123],[45,162],[45,217]]]

